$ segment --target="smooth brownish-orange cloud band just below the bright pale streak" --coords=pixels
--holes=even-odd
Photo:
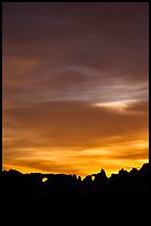
[[[39,102],[26,105],[23,103],[22,106],[3,110],[3,134],[7,134],[7,129],[11,125],[11,136],[17,137],[18,134],[17,142],[13,141],[14,146],[17,143],[18,146],[22,146],[23,143],[31,146],[32,142],[33,146],[44,145],[45,142],[48,146],[60,147],[97,146],[108,136],[125,136],[147,131],[145,105],[134,103],[131,106],[134,114],[129,114],[129,110],[127,114],[119,114],[85,102]]]

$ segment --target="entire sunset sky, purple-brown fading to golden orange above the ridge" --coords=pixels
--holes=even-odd
[[[86,176],[148,154],[149,3],[2,3],[2,167]]]

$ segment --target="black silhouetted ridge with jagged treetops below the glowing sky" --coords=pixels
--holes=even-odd
[[[122,168],[109,178],[104,170],[84,179],[14,170],[3,171],[1,178],[2,217],[8,225],[40,220],[42,225],[145,225],[149,220],[149,164],[130,172]]]

